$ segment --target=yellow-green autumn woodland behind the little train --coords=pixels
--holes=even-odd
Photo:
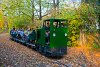
[[[68,46],[100,48],[100,0],[0,0],[0,33],[37,29],[43,20],[68,20]]]

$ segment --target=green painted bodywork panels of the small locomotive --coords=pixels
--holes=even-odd
[[[62,21],[66,21],[67,20],[64,20],[64,19],[47,19],[45,20],[46,21],[49,21],[50,22],[50,48],[59,48],[59,47],[65,47],[67,46],[67,42],[68,42],[68,27],[64,28],[64,27],[61,27],[61,22]],[[58,22],[59,23],[59,27],[54,27],[54,22]],[[67,26],[67,25],[66,25]],[[38,32],[40,31],[40,32]],[[46,42],[45,42],[45,28],[42,27],[41,29],[38,29],[37,30],[37,36],[38,36],[38,33],[40,33],[40,38],[38,39],[37,37],[37,44],[39,45],[45,45]]]

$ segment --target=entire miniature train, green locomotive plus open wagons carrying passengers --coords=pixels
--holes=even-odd
[[[46,56],[63,56],[67,53],[68,26],[65,19],[46,19],[41,28],[33,30],[28,36],[21,31],[11,30],[11,39],[30,45]]]

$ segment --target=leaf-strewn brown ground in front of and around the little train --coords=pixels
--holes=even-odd
[[[48,58],[0,34],[0,67],[100,67],[100,52],[89,47],[68,47],[62,58]]]

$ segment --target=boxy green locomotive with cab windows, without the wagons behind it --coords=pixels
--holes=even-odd
[[[47,19],[44,20],[43,27],[37,30],[36,44],[40,51],[63,55],[67,51],[67,34],[67,20]]]

